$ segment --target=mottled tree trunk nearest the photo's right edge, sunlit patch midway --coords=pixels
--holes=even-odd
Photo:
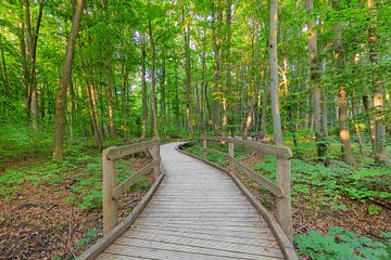
[[[384,116],[382,114],[383,93],[381,78],[378,69],[378,36],[377,36],[377,4],[375,0],[368,0],[368,8],[373,16],[373,23],[368,29],[369,34],[369,61],[375,67],[371,74],[371,83],[374,86],[374,119],[375,119],[375,161],[378,165],[386,165],[386,126],[383,123]]]

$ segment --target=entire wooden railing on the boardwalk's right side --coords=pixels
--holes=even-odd
[[[228,154],[207,148],[207,141],[223,142],[228,144]],[[253,151],[258,151],[264,155],[274,155],[277,158],[276,165],[276,183],[267,178],[256,173],[254,170],[241,164],[235,158],[235,145],[241,145]],[[203,138],[203,152],[206,156],[209,153],[219,155],[229,160],[229,171],[235,169],[245,173],[253,181],[265,187],[276,196],[277,222],[286,233],[287,237],[292,240],[292,212],[291,212],[291,187],[290,187],[290,158],[292,153],[289,147],[282,145],[269,145],[253,141],[244,141],[234,138]]]

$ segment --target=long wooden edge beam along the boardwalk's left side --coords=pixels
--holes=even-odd
[[[119,223],[112,231],[110,231],[103,238],[99,239],[96,244],[93,244],[85,252],[83,252],[79,259],[80,260],[94,259],[117,237],[119,237],[126,230],[128,230],[131,226],[131,224],[136,221],[137,217],[147,207],[148,203],[151,200],[154,192],[157,190],[159,184],[162,182],[163,178],[164,178],[164,172],[155,180],[151,188],[142,197],[141,202],[136,206],[136,208],[131,211],[131,213],[122,223]]]

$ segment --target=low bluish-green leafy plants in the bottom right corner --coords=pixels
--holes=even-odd
[[[391,240],[390,240],[391,242]],[[357,236],[342,227],[329,227],[328,234],[310,231],[307,235],[297,235],[294,243],[302,257],[314,260],[328,259],[388,259],[387,245],[366,236]]]

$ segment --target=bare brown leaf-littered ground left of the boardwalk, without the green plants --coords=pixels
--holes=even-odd
[[[144,158],[137,158],[131,168],[137,170],[146,164]],[[52,185],[26,182],[12,199],[1,198],[0,259],[73,259],[102,236],[101,208],[86,210],[66,203],[73,183],[74,178]],[[144,193],[127,193],[122,198],[126,207],[119,209],[119,218],[126,217]],[[86,237],[91,230],[96,232]]]

